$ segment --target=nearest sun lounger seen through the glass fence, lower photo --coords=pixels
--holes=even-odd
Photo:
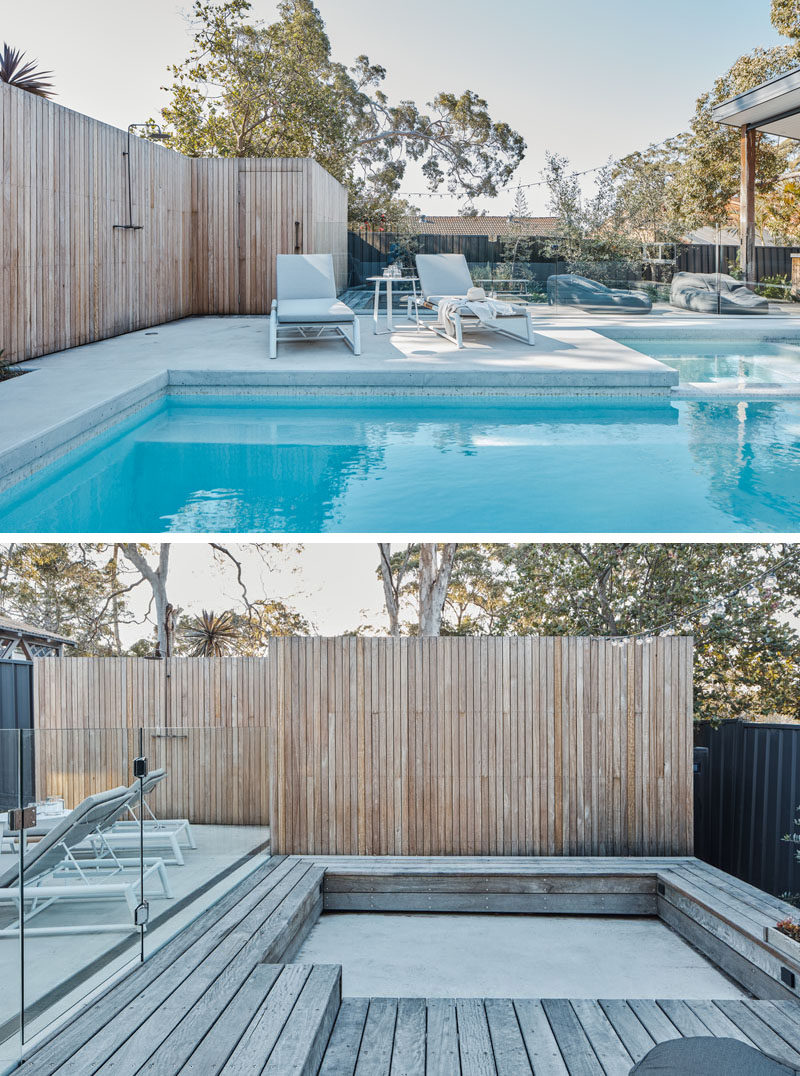
[[[113,849],[103,848],[102,855],[86,856],[80,846],[103,839],[121,812],[132,798],[130,789],[121,787],[87,796],[73,811],[31,845],[23,859],[23,892],[19,887],[19,863],[15,862],[0,876],[0,904],[16,907],[17,918],[0,928],[0,937],[19,933],[19,920],[25,905],[25,933],[28,935],[120,933],[136,930],[134,915],[142,900],[140,893],[139,858],[122,859]],[[145,858],[144,883],[151,878],[159,884],[157,896],[171,897],[164,860]],[[130,916],[113,923],[53,923],[31,926],[30,920],[45,908],[62,903],[94,903],[124,900]]]

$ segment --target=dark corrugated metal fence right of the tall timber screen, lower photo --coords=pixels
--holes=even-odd
[[[800,725],[696,726],[708,751],[694,781],[694,853],[769,893],[800,893],[800,863],[782,838],[800,805]]]

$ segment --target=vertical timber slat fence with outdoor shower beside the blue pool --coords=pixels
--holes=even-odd
[[[345,286],[347,192],[315,161],[192,159],[134,138],[129,230],[114,227],[128,222],[126,148],[125,131],[0,83],[4,358],[268,313],[279,253],[334,253]]]

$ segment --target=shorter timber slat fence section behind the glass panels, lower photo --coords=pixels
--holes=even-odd
[[[45,657],[33,663],[37,794],[69,807],[132,780],[144,727],[164,818],[269,823],[263,657]]]

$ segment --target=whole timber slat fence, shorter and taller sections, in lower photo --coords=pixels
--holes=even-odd
[[[130,780],[313,854],[683,854],[692,643],[275,639],[269,659],[43,659],[40,795]],[[271,789],[271,801],[270,796]]]

